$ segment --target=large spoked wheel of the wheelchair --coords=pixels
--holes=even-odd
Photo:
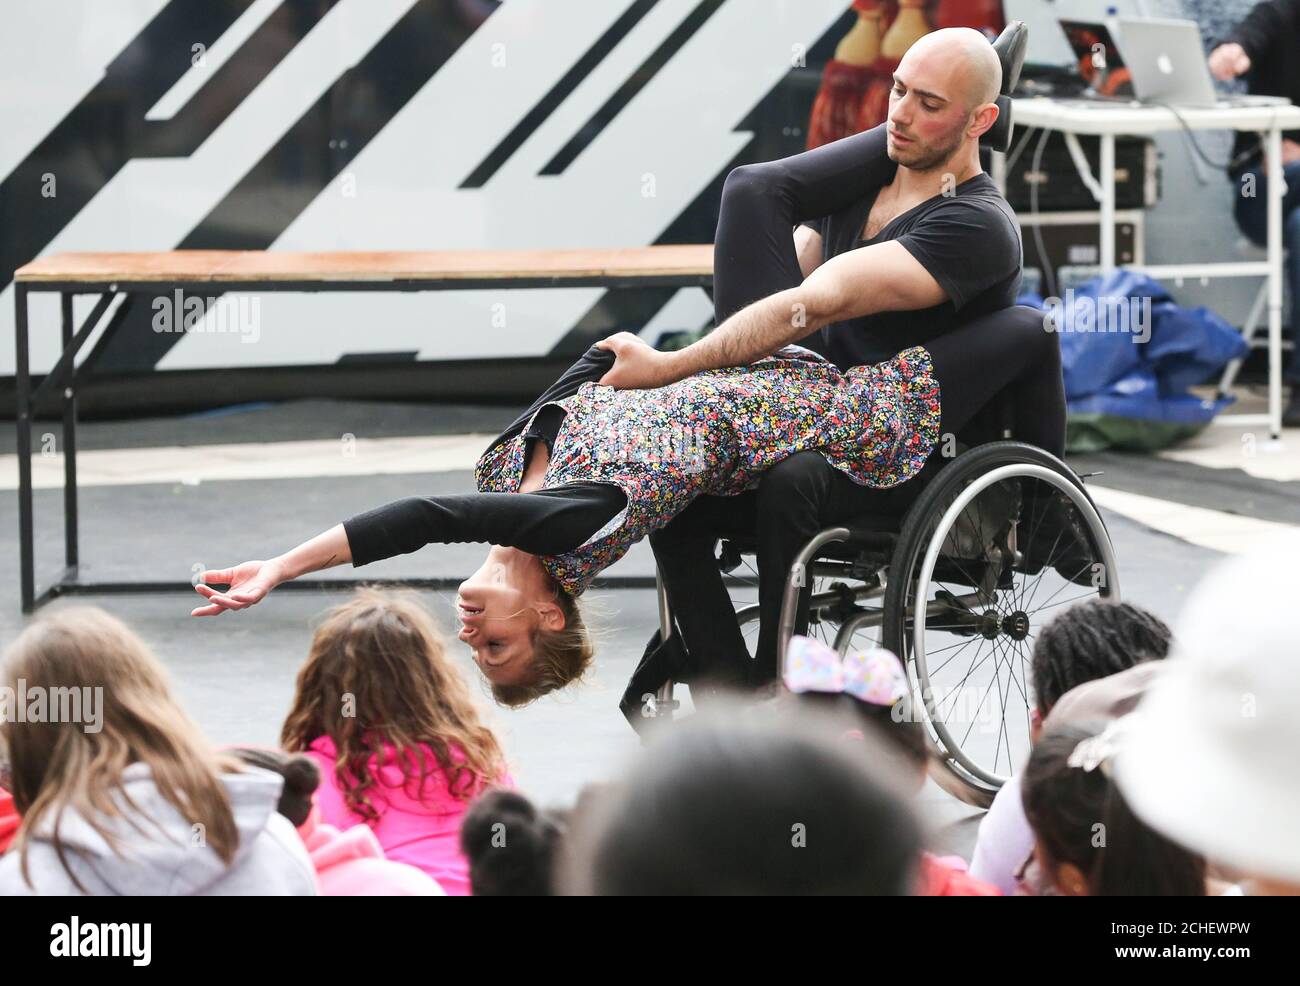
[[[940,470],[900,533],[883,636],[909,669],[942,787],[987,806],[1024,762],[1035,637],[1096,598],[1119,598],[1114,550],[1063,462],[1002,441]]]

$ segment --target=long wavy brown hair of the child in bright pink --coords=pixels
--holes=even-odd
[[[334,743],[347,806],[368,821],[378,818],[372,795],[386,747],[419,801],[436,771],[467,801],[506,771],[495,734],[481,721],[433,618],[410,592],[363,588],[325,614],[280,739],[287,751],[304,751],[320,736]]]

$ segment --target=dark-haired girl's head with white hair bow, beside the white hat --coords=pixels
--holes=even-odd
[[[1043,875],[1067,896],[1204,896],[1205,860],[1141,822],[1112,779],[1124,719],[1045,731],[1020,778]]]

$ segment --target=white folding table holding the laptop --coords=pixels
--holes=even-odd
[[[1232,424],[1268,424],[1270,436],[1282,434],[1282,131],[1300,129],[1300,107],[1169,107],[1141,103],[1093,103],[1046,96],[1017,99],[1011,109],[1017,126],[1060,130],[1065,134],[1079,176],[1100,206],[1101,269],[1115,268],[1115,135],[1182,130],[1247,130],[1264,134],[1268,156],[1268,259],[1262,261],[1205,264],[1124,264],[1152,277],[1264,277],[1269,306],[1269,411],[1262,415],[1221,415]],[[1182,122],[1179,122],[1182,117]],[[1079,148],[1078,135],[1101,138],[1101,174],[1093,176]],[[1031,138],[1032,139],[1032,138]],[[1026,151],[1028,152],[1028,151]],[[1004,155],[993,155],[993,177],[1005,189]]]

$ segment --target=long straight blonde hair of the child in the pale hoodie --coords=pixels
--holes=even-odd
[[[69,866],[58,838],[64,813],[79,813],[86,823],[118,851],[117,836],[105,819],[125,818],[147,835],[138,818],[124,812],[139,806],[122,788],[122,771],[131,764],[148,766],[159,793],[191,825],[204,827],[204,838],[229,864],[239,847],[224,773],[239,773],[233,757],[218,753],[177,702],[166,671],[125,623],[98,606],[66,606],[43,613],[9,645],[3,680],[10,695],[40,688],[47,706],[55,697],[69,699],[78,721],[47,714],[46,722],[0,722],[9,751],[14,808],[22,826],[12,851],[22,855],[27,872],[31,834],[51,821],[51,843],[68,875],[86,887]],[[84,697],[98,705],[98,728],[87,728]],[[114,795],[121,795],[121,800]],[[161,833],[161,829],[159,829]]]

